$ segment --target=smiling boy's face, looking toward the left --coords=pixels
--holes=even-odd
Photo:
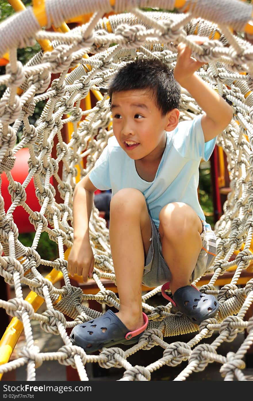
[[[168,115],[162,117],[149,89],[112,93],[112,128],[116,140],[134,160],[155,161],[166,144]],[[159,154],[160,153],[160,154]]]

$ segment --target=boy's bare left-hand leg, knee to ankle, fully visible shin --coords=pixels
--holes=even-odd
[[[110,203],[110,247],[120,299],[118,318],[130,330],[143,326],[141,287],[145,256],[152,235],[143,194],[118,191]]]

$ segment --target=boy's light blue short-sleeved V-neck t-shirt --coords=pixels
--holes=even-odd
[[[127,156],[114,136],[109,138],[108,145],[90,172],[90,181],[100,190],[111,189],[112,196],[122,188],[141,191],[157,228],[161,209],[172,202],[191,206],[205,222],[197,194],[199,164],[201,158],[206,161],[210,158],[216,138],[205,143],[201,117],[180,122],[175,130],[166,133],[165,150],[152,182],[138,175],[135,160]],[[211,229],[209,224],[204,224]]]

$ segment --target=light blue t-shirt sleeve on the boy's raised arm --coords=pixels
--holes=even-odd
[[[202,115],[199,115],[191,122],[184,121],[179,123],[180,128],[174,142],[183,157],[194,160],[203,158],[207,161],[213,153],[217,137],[205,142],[201,118]]]

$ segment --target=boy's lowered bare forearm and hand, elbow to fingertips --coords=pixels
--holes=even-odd
[[[92,277],[94,255],[90,245],[89,221],[93,205],[93,194],[97,188],[92,184],[87,174],[74,190],[73,218],[74,242],[68,257],[68,271],[82,275],[86,282]]]

